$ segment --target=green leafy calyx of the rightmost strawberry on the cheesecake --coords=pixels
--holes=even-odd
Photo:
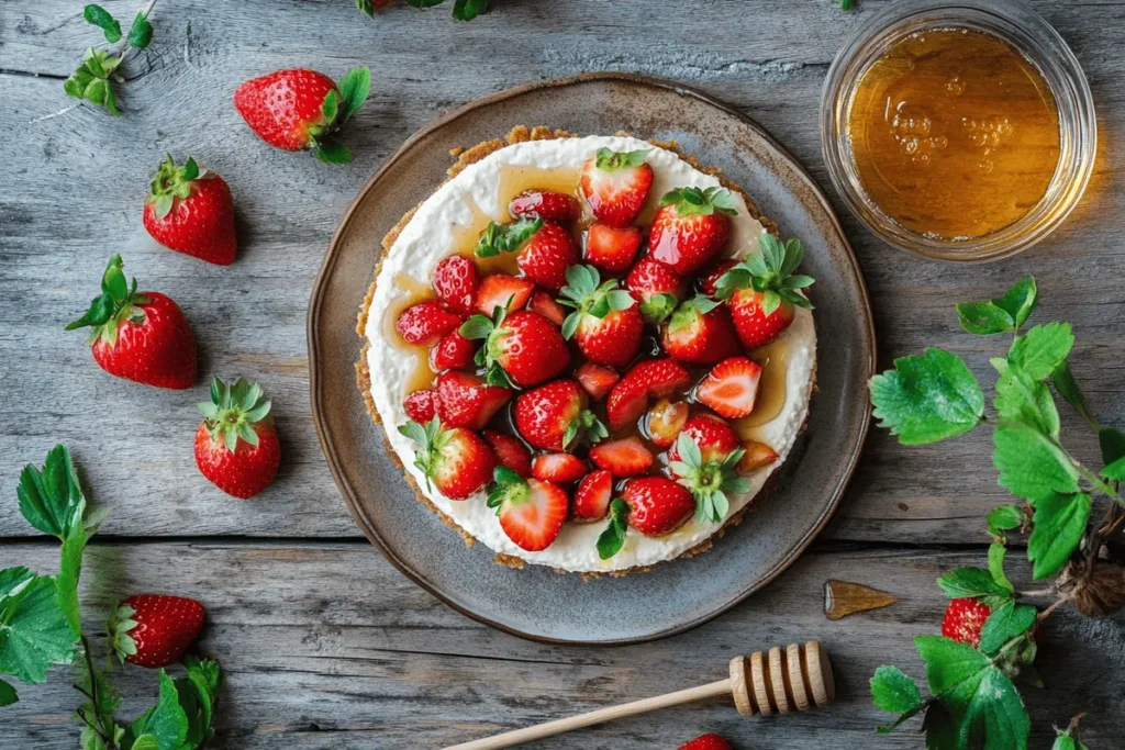
[[[794,273],[804,260],[804,245],[791,238],[784,243],[773,234],[758,240],[759,251],[747,255],[716,282],[716,296],[730,299],[739,289],[762,293],[762,311],[773,315],[782,302],[811,310],[812,305],[799,290],[812,286],[812,277]]]

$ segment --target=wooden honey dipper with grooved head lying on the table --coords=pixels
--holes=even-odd
[[[722,695],[734,696],[735,707],[744,716],[754,714],[772,716],[775,713],[790,714],[806,711],[813,705],[827,706],[836,698],[836,683],[832,680],[832,667],[828,663],[828,653],[820,643],[817,641],[809,641],[804,645],[791,643],[784,650],[774,647],[767,652],[756,651],[748,657],[735,657],[730,660],[730,677],[718,683],[452,744],[444,750],[511,748],[614,719],[636,716]]]

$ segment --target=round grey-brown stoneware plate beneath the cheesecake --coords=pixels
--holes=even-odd
[[[742,186],[784,236],[804,242],[803,268],[817,279],[819,363],[808,431],[774,491],[705,554],[591,581],[540,566],[501,567],[485,545],[467,548],[415,499],[387,455],[382,428],[368,416],[353,369],[361,345],[356,315],[382,236],[442,182],[450,148],[501,137],[516,125],[675,141]],[[875,341],[860,266],[801,165],[758,125],[698,91],[612,73],[474,101],[403,144],[360,191],[332,240],[309,301],[308,353],[313,417],[328,467],[356,522],[388,560],[450,606],[516,635],[626,643],[685,631],[732,607],[791,564],[820,531],[867,431],[865,383]]]

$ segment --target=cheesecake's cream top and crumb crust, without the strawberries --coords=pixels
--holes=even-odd
[[[652,182],[645,208],[637,219],[641,227],[651,220],[660,197],[668,191],[734,187],[719,175],[693,165],[673,147],[632,137],[550,137],[500,146],[493,145],[486,150],[486,155],[471,163],[462,157],[462,169],[404,217],[404,222],[388,235],[389,242],[385,243],[385,253],[361,315],[361,334],[366,345],[359,367],[366,377],[361,377],[360,382],[369,388],[364,396],[374,409],[372,417],[385,430],[389,449],[412,479],[420,499],[436,510],[447,524],[458,528],[466,540],[487,545],[503,561],[516,564],[522,561],[580,573],[620,573],[698,551],[727,523],[739,518],[763,493],[806,423],[814,383],[817,343],[812,314],[808,309],[795,307],[793,322],[770,345],[774,352],[774,371],[770,378],[763,378],[762,388],[772,388],[773,392],[759,392],[759,406],[755,408],[760,409],[760,403],[772,401],[770,409],[775,414],[770,414],[767,421],[754,419],[752,414],[744,422],[753,422],[753,426],[739,428],[740,434],[745,432],[754,441],[768,445],[777,458],[746,475],[746,491],[727,494],[729,508],[719,519],[694,514],[686,523],[660,536],[648,536],[630,527],[620,550],[609,559],[602,559],[597,546],[608,521],[568,521],[549,546],[530,552],[505,534],[496,509],[486,503],[487,493],[484,489],[467,499],[450,499],[428,482],[425,475],[415,466],[417,445],[399,431],[408,422],[403,404],[405,397],[412,390],[424,387],[426,378],[432,374],[423,361],[425,352],[405,345],[396,334],[392,318],[403,310],[405,302],[426,296],[420,290],[429,287],[434,266],[451,253],[464,252],[467,237],[471,240],[488,220],[511,222],[508,200],[512,196],[508,193],[516,187],[564,190],[569,186],[570,193],[580,199],[578,175],[587,160],[600,150],[622,153],[647,151],[645,162],[651,166]],[[764,219],[758,217],[753,202],[737,188],[729,190],[729,200],[734,213],[729,216],[730,237],[722,255],[740,259],[757,253],[759,240],[767,233]],[[583,206],[584,213],[588,214],[590,206],[585,202]],[[638,257],[644,254],[642,246]],[[746,353],[754,356],[753,352]],[[567,376],[564,372],[561,377]],[[506,410],[496,419],[504,421],[511,428]],[[660,466],[657,460],[654,473],[660,470]],[[620,482],[616,488],[620,489]]]

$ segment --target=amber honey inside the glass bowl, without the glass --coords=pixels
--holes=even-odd
[[[863,73],[847,128],[871,200],[930,237],[1011,225],[1059,164],[1059,110],[1042,73],[1007,42],[966,28],[892,44]]]

